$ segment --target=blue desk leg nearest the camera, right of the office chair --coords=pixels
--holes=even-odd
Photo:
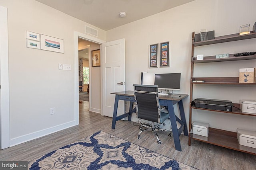
[[[176,116],[174,113],[172,100],[167,101],[167,106],[168,106],[170,121],[171,121],[171,125],[172,125],[172,135],[173,135],[175,149],[178,151],[181,151],[180,137],[179,137],[179,133],[178,133]]]

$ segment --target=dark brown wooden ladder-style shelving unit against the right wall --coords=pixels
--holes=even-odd
[[[206,56],[206,57],[204,57],[204,60],[196,61],[196,58],[194,57],[194,47],[202,46],[202,45],[216,44],[216,43],[224,43],[224,42],[229,42],[229,41],[238,41],[238,40],[243,40],[243,39],[256,38],[256,33],[250,33],[250,34],[246,34],[246,35],[239,35],[237,33],[237,34],[232,34],[232,35],[215,37],[215,39],[211,39],[211,40],[207,40],[207,41],[200,41],[200,42],[194,42],[194,37],[195,37],[195,33],[193,32],[192,33],[192,55],[191,55],[192,58],[191,58],[190,113],[189,113],[188,145],[191,145],[191,140],[194,139],[197,141],[202,141],[202,142],[210,143],[213,145],[218,145],[220,147],[225,147],[225,148],[238,150],[241,152],[246,152],[246,153],[256,155],[256,149],[251,148],[251,147],[246,147],[243,145],[239,145],[236,132],[225,131],[222,129],[209,128],[208,137],[203,137],[200,135],[195,135],[195,134],[190,133],[191,129],[192,129],[192,110],[193,109],[222,112],[224,114],[229,113],[229,114],[239,114],[239,115],[244,115],[244,116],[256,116],[255,114],[243,113],[240,110],[240,104],[233,104],[232,111],[220,111],[220,110],[214,110],[214,109],[204,109],[204,108],[195,107],[194,101],[193,101],[193,86],[194,86],[194,84],[219,84],[219,85],[233,84],[233,85],[247,85],[247,86],[256,85],[256,83],[239,83],[239,77],[194,77],[194,64],[196,64],[196,63],[212,63],[212,62],[225,62],[225,61],[239,61],[239,60],[256,59],[256,55],[235,57],[234,54],[230,54],[228,58],[215,59],[215,56]],[[204,80],[204,82],[193,82],[194,80]]]

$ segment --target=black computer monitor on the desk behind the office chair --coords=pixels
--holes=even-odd
[[[180,74],[155,74],[155,85],[161,90],[180,90]]]

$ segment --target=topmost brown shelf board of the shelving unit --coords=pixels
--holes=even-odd
[[[250,39],[250,38],[256,38],[256,33],[245,34],[245,35],[239,35],[239,33],[231,34],[231,35],[224,35],[220,37],[215,37],[215,39],[210,39],[207,41],[199,41],[192,43],[194,47],[202,46],[202,45],[210,45],[210,44],[216,44],[216,43],[225,43],[230,41],[238,41],[242,39]]]

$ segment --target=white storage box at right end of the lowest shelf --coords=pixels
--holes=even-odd
[[[256,132],[237,129],[237,139],[240,145],[256,148]]]

